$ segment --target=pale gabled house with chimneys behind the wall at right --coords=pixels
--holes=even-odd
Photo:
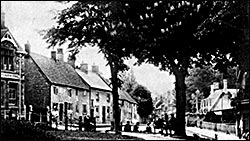
[[[210,95],[201,101],[201,113],[214,112],[217,119],[224,123],[235,123],[232,98],[236,97],[238,89],[228,89],[227,80],[223,80],[223,89],[211,85]]]

